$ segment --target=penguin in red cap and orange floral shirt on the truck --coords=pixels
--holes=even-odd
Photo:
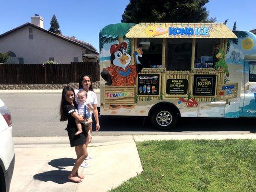
[[[112,86],[131,86],[135,85],[137,74],[141,72],[142,55],[137,59],[137,64],[130,65],[131,55],[126,52],[127,43],[114,44],[110,47],[110,67],[103,68],[101,77],[107,82],[106,85]],[[141,49],[140,49],[141,50]],[[142,53],[142,51],[141,51]],[[136,54],[136,51],[135,53]]]

